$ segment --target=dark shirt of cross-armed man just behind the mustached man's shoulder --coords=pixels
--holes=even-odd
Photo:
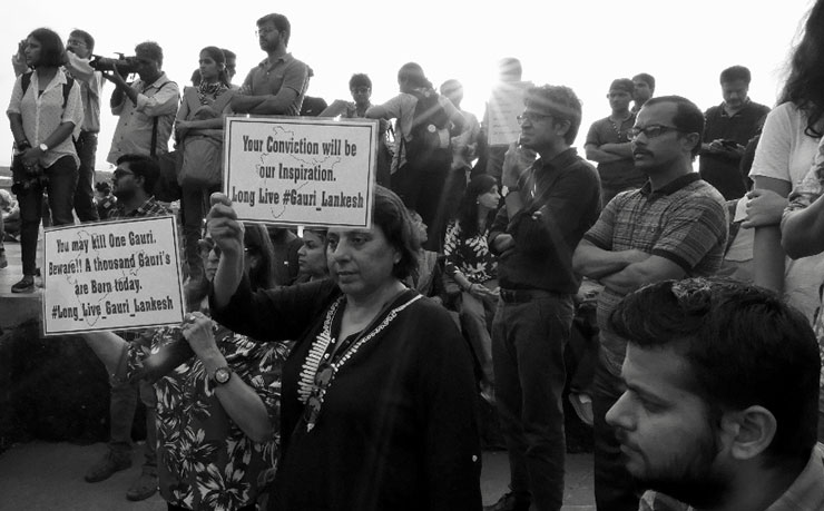
[[[600,147],[604,144],[628,143],[632,126],[635,114],[620,125],[612,122],[609,117],[596,120],[587,134],[587,145]],[[647,181],[647,175],[635,168],[635,159],[631,157],[598,164],[598,175],[601,178],[605,203],[610,202],[619,191],[640,188]]]

